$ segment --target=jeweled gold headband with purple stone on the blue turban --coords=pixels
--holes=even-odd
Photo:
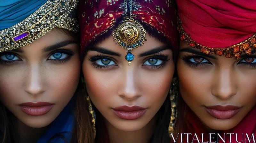
[[[79,0],[48,0],[27,19],[0,31],[0,52],[17,49],[36,41],[54,27],[78,32],[78,21],[68,15]]]

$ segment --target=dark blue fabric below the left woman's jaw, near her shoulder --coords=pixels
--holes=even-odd
[[[76,98],[74,96],[36,143],[47,143],[52,137],[54,137],[54,139],[52,139],[50,143],[70,142],[75,122],[73,112],[74,107],[76,107],[75,104]]]

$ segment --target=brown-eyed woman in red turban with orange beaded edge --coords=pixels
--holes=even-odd
[[[255,142],[256,2],[176,3],[182,98],[174,139],[191,133],[183,134],[183,142]]]

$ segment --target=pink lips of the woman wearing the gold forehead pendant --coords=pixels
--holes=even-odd
[[[120,106],[113,108],[116,115],[124,120],[135,120],[140,118],[146,111],[146,108],[140,106]]]

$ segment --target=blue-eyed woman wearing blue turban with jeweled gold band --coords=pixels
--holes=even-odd
[[[0,142],[91,142],[77,3],[1,1]]]

